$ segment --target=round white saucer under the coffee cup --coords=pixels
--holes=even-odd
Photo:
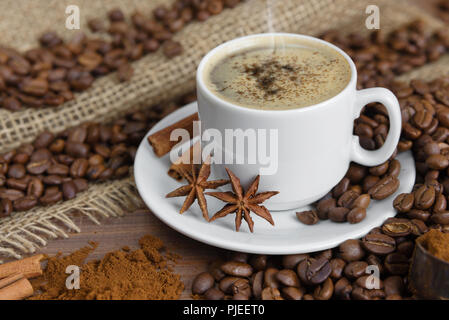
[[[147,136],[197,111],[196,102],[171,113],[157,123]],[[358,224],[320,221],[307,226],[296,218],[295,212],[305,210],[272,212],[275,226],[251,214],[254,220],[254,233],[251,233],[245,221],[239,232],[235,231],[234,214],[211,223],[204,220],[198,204],[195,202],[182,215],[179,209],[184,201],[180,198],[165,198],[170,191],[180,187],[167,175],[170,167],[169,155],[156,157],[148,141],[142,140],[134,162],[134,176],[137,189],[153,213],[173,229],[195,240],[220,248],[259,254],[294,254],[333,248],[347,239],[360,238],[372,228],[380,226],[384,220],[393,217],[393,199],[397,194],[410,192],[415,182],[415,164],[411,152],[400,154],[399,179],[401,185],[397,192],[382,201],[371,201],[367,217]],[[226,177],[223,177],[226,178]],[[229,186],[223,188],[227,190]],[[209,215],[221,209],[223,202],[207,197]]]

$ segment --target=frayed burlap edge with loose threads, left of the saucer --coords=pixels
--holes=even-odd
[[[119,217],[142,207],[134,179],[128,177],[93,185],[69,201],[15,213],[1,220],[0,261],[7,257],[20,259],[46,246],[48,239],[67,238],[69,232],[80,232],[73,221],[75,214],[100,224],[102,218]]]

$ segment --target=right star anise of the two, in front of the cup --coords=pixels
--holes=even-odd
[[[235,230],[239,231],[240,225],[242,224],[242,219],[245,219],[249,226],[251,232],[254,231],[254,221],[251,219],[249,213],[252,211],[259,217],[264,218],[269,223],[274,225],[273,218],[270,212],[264,206],[260,204],[265,200],[271,198],[272,196],[278,194],[278,191],[267,191],[257,193],[259,188],[260,175],[258,175],[254,181],[251,183],[248,191],[244,194],[242,185],[240,184],[240,179],[228,168],[226,172],[231,180],[232,192],[206,192],[207,195],[213,196],[221,201],[228,202],[220,211],[215,213],[215,215],[210,219],[214,221],[218,218],[223,218],[230,213],[235,212]]]

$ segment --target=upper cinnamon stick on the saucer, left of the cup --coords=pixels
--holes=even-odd
[[[153,147],[154,153],[158,157],[162,157],[163,155],[170,152],[174,145],[176,145],[178,141],[171,141],[170,134],[175,129],[185,129],[189,132],[191,139],[193,136],[193,122],[198,121],[198,113],[194,113],[184,119],[179,120],[178,122],[159,130],[153,133],[148,137],[148,142]]]

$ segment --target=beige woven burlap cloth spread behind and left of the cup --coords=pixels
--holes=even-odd
[[[46,30],[57,30],[64,37],[70,37],[74,31],[64,28],[65,8],[69,4],[80,7],[82,30],[86,31],[89,18],[105,15],[111,8],[120,7],[126,13],[139,9],[149,14],[161,3],[167,1],[2,0],[0,44],[25,50],[35,46],[36,38]],[[379,6],[380,27],[387,32],[418,17],[431,28],[442,26],[420,9],[402,1],[247,0],[178,33],[175,39],[185,49],[181,56],[168,60],[157,52],[133,63],[135,73],[129,83],[118,83],[112,74],[96,80],[92,88],[58,108],[16,113],[0,110],[0,152],[32,141],[44,129],[58,132],[84,121],[108,121],[130,109],[148,107],[186,93],[194,89],[195,70],[201,57],[235,37],[270,31],[317,35],[328,29],[367,33],[365,8],[368,4]],[[430,79],[448,73],[448,60],[446,57],[415,70],[412,77]],[[84,214],[99,223],[99,217],[119,216],[124,209],[132,210],[141,205],[133,178],[129,177],[91,186],[67,202],[15,213],[0,220],[0,258],[20,258],[34,252],[38,246],[45,246],[49,238],[78,232],[79,228],[70,218],[72,214]]]

